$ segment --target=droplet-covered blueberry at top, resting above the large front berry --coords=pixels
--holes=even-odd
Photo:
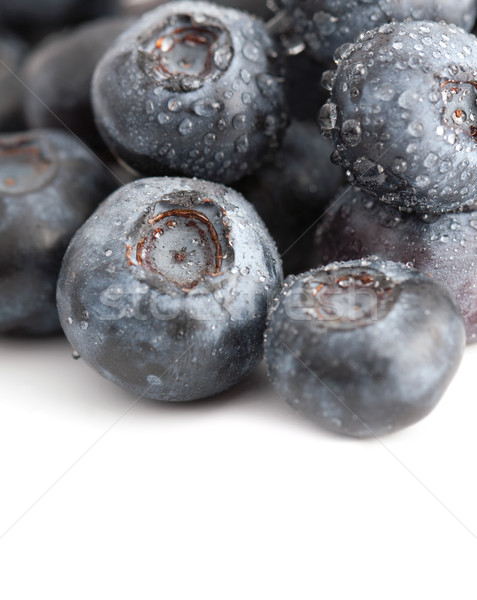
[[[106,143],[138,173],[231,183],[279,147],[284,88],[282,60],[259,19],[186,1],[124,32],[95,71],[92,99]]]

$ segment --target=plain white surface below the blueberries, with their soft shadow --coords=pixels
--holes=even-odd
[[[324,433],[263,368],[129,396],[62,340],[0,341],[0,598],[477,597],[477,346],[436,410]]]

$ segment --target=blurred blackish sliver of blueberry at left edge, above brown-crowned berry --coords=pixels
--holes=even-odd
[[[15,35],[0,30],[0,131],[23,129],[21,97],[23,86],[15,74],[27,52]]]

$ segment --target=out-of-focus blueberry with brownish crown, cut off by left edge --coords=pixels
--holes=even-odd
[[[0,334],[56,333],[63,254],[115,181],[59,131],[0,135],[0,157]]]

